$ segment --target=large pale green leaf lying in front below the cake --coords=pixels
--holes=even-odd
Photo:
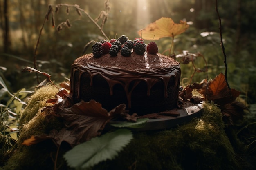
[[[113,159],[132,139],[132,132],[119,129],[92,138],[65,153],[67,164],[76,169],[85,169],[107,159]]]

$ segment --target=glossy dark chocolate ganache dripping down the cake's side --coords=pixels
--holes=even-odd
[[[180,65],[173,66],[172,68],[148,68],[147,70],[136,69],[134,71],[124,70],[120,68],[112,68],[112,67],[104,67],[86,63],[85,66],[81,66],[80,64],[72,65],[72,75],[71,79],[71,95],[74,96],[74,81],[72,78],[74,77],[76,72],[79,72],[79,80],[78,80],[78,89],[77,89],[77,98],[81,98],[80,90],[81,90],[81,76],[84,73],[88,73],[90,75],[90,86],[93,86],[93,78],[95,75],[100,75],[103,77],[106,82],[108,82],[110,88],[110,95],[113,95],[113,87],[115,84],[120,84],[124,91],[126,92],[126,97],[128,101],[128,108],[131,108],[131,94],[133,89],[141,82],[144,81],[147,84],[147,95],[150,95],[150,89],[154,86],[155,83],[162,80],[164,82],[164,97],[168,96],[167,94],[167,86],[168,82],[172,76],[175,77],[175,86],[179,84],[180,77]],[[178,77],[178,78],[177,78]],[[132,83],[132,87],[130,87]]]

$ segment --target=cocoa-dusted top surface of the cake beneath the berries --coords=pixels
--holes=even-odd
[[[128,57],[124,57],[119,52],[117,56],[110,56],[110,54],[104,54],[99,58],[96,58],[90,54],[83,55],[74,61],[74,64],[86,66],[91,64],[93,66],[104,68],[117,68],[126,69],[130,71],[134,70],[150,70],[154,68],[174,68],[180,66],[179,62],[171,57],[167,57],[162,54],[149,54],[137,55],[135,52]]]

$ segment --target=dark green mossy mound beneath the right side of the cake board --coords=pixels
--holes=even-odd
[[[242,169],[223,127],[218,107],[206,104],[202,117],[189,124],[170,130],[135,133],[135,138],[119,157],[93,169]]]

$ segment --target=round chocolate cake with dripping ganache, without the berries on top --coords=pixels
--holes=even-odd
[[[157,113],[177,107],[180,74],[179,62],[159,53],[99,58],[91,53],[72,64],[70,93],[107,110],[124,103],[130,113]]]

